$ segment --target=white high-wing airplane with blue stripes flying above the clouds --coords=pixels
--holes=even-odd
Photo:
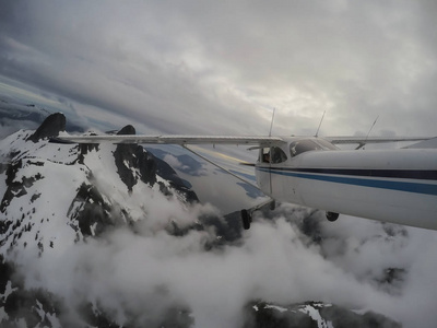
[[[358,150],[367,143],[432,138],[221,136],[68,136],[59,142],[256,144],[259,189],[272,199],[339,213],[437,230],[437,149]],[[340,150],[335,144],[358,144]],[[198,154],[198,153],[196,153]],[[274,202],[273,202],[274,204]],[[245,229],[251,211],[241,210]]]

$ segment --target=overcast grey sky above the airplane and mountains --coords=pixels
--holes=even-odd
[[[437,134],[437,2],[2,1],[0,82],[164,133]],[[22,84],[17,84],[17,82]],[[4,93],[4,87],[1,92]]]

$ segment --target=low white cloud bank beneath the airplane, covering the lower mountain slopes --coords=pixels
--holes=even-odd
[[[143,199],[150,196],[143,194]],[[139,220],[134,232],[107,231],[98,238],[47,249],[39,258],[32,247],[15,254],[26,285],[47,289],[70,308],[86,301],[118,323],[134,317],[142,325],[158,323],[176,306],[192,312],[194,327],[240,327],[241,308],[256,298],[371,309],[404,327],[436,319],[434,232],[349,216],[327,223],[321,213],[308,219],[309,211],[283,204],[272,218],[258,215],[238,245],[206,250],[216,238],[212,231],[173,236],[155,223],[173,219],[190,224],[211,208],[174,211],[174,200],[151,201],[160,212]],[[316,220],[323,236],[320,245],[298,229],[305,218]],[[405,268],[405,279],[399,286],[381,288],[376,278],[391,267]]]

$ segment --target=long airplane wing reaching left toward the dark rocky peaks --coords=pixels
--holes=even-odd
[[[110,136],[62,136],[54,138],[59,143],[172,143],[172,144],[272,144],[281,143],[281,137],[237,137],[237,136],[141,136],[141,134],[110,134]]]

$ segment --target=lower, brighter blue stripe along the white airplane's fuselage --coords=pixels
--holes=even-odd
[[[380,188],[380,189],[390,189],[390,190],[399,190],[399,191],[408,191],[415,194],[425,194],[425,195],[434,195],[437,196],[437,185],[432,184],[422,184],[422,183],[412,183],[412,181],[392,181],[392,180],[375,180],[375,179],[364,179],[356,177],[344,177],[344,176],[332,176],[332,175],[315,175],[299,172],[292,172],[287,169],[276,169],[269,167],[258,167],[258,169],[263,172],[271,172],[273,174],[293,176],[312,180],[321,180],[328,183],[336,183],[336,184],[345,184],[345,185],[354,185],[354,186],[363,186],[370,188]]]

